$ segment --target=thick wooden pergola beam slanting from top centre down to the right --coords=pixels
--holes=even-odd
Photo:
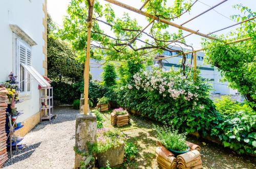
[[[178,29],[181,29],[181,30],[183,30],[183,31],[187,31],[187,32],[190,32],[190,33],[193,33],[193,34],[196,34],[196,35],[199,35],[199,36],[208,38],[208,39],[219,40],[219,39],[217,39],[217,38],[215,38],[215,37],[211,37],[211,36],[209,36],[209,35],[206,35],[206,34],[197,32],[197,31],[195,31],[195,30],[191,30],[191,29],[189,29],[189,28],[180,26],[180,25],[178,25],[178,24],[176,24],[176,23],[174,23],[174,22],[170,22],[170,21],[168,21],[168,20],[166,20],[166,19],[159,18],[159,17],[157,17],[157,16],[155,16],[155,15],[152,15],[152,14],[150,14],[150,13],[147,13],[147,12],[141,11],[141,10],[139,10],[139,9],[137,9],[137,8],[134,8],[134,7],[132,7],[132,6],[123,4],[123,3],[119,2],[119,1],[116,1],[116,0],[104,0],[104,1],[109,2],[109,3],[111,3],[111,4],[115,4],[115,5],[119,6],[119,7],[125,8],[125,9],[127,9],[127,10],[136,12],[136,13],[138,13],[138,14],[144,15],[144,16],[146,16],[146,17],[150,17],[150,18],[152,18],[152,19],[154,19],[154,20],[159,20],[159,21],[161,21],[161,22],[163,22],[163,23],[166,23],[167,25],[173,26],[173,27],[178,28]]]

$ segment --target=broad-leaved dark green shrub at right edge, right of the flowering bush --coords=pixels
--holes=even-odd
[[[256,154],[256,115],[240,111],[222,117],[218,124],[212,125],[211,135],[239,154]]]

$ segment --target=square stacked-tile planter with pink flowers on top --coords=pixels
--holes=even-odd
[[[123,108],[114,109],[111,113],[111,124],[118,127],[128,125],[130,122],[129,114]]]

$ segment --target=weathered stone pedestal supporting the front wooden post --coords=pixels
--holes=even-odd
[[[80,111],[81,109],[80,101]],[[78,114],[76,117],[76,133],[75,133],[75,146],[80,151],[88,152],[87,142],[91,144],[96,142],[97,122],[96,116],[93,113]],[[82,157],[79,154],[75,154],[75,168],[79,167],[79,163]]]

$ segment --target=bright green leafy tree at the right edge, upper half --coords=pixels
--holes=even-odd
[[[248,7],[242,5],[234,7],[244,12],[244,15],[232,16],[237,21],[256,15]],[[221,36],[223,41],[205,39],[202,44],[207,63],[218,67],[229,85],[238,89],[250,106],[256,110],[256,30],[253,20],[242,23],[240,28],[229,34],[230,41],[246,37],[251,37],[251,39],[227,45],[224,36]]]

